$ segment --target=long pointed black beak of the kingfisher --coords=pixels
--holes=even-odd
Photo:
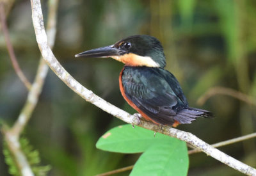
[[[120,56],[124,51],[116,49],[115,45],[109,45],[107,47],[100,47],[97,49],[91,49],[89,51],[84,51],[76,54],[75,57],[92,57],[92,58],[108,58],[111,56]]]

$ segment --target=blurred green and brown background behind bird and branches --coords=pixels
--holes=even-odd
[[[47,1],[42,1],[42,8],[47,19]],[[113,44],[129,35],[156,36],[164,47],[166,69],[180,81],[189,105],[215,115],[214,119],[200,118],[178,129],[192,132],[207,143],[216,143],[256,131],[255,106],[226,95],[215,95],[204,106],[196,104],[213,86],[233,88],[256,99],[255,19],[254,0],[60,0],[53,52],[86,88],[135,113],[118,88],[122,63],[109,58],[74,58],[74,55]],[[40,51],[29,1],[15,1],[8,15],[8,27],[20,67],[32,82]],[[3,33],[0,33],[0,58],[0,118],[12,124],[28,92],[12,68]],[[95,148],[105,131],[120,124],[124,122],[81,99],[50,70],[24,134],[39,150],[42,163],[52,166],[50,175],[95,175],[134,164],[140,156]],[[2,150],[3,137],[0,138]],[[255,140],[220,149],[256,166]],[[188,175],[241,174],[205,154],[193,154],[189,162]],[[8,175],[7,170],[1,153],[0,175]]]

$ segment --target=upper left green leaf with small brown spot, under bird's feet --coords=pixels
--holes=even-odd
[[[149,131],[141,127],[132,128],[132,125],[122,125],[106,132],[97,141],[96,147],[109,152],[120,153],[140,153],[147,150],[155,143],[166,141],[179,141],[170,136],[157,133],[154,137],[154,131]]]

